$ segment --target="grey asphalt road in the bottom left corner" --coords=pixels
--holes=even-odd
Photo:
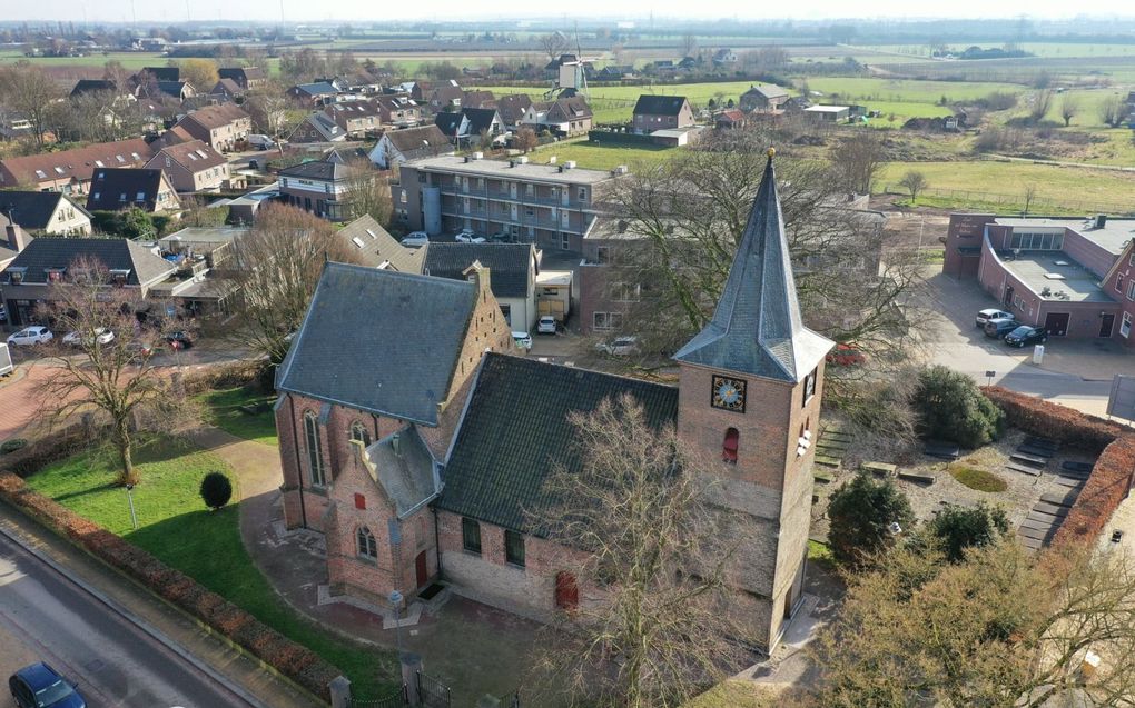
[[[91,708],[249,708],[0,535],[0,672],[45,660],[77,681]],[[0,689],[0,707],[15,703]]]

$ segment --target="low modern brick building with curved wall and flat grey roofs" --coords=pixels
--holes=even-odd
[[[951,214],[942,272],[976,279],[998,307],[1050,336],[1118,335],[1130,347],[1133,239],[1135,219]]]

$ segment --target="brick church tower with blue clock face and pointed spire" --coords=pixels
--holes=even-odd
[[[678,433],[718,470],[718,503],[759,529],[735,581],[770,651],[801,598],[813,444],[833,346],[800,319],[773,155],[713,319],[674,356]]]

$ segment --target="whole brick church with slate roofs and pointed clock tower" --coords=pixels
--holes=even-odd
[[[384,605],[440,581],[540,620],[587,602],[526,512],[556,462],[571,469],[569,415],[629,393],[718,464],[718,503],[758,529],[737,604],[774,648],[802,595],[833,344],[800,318],[771,153],[713,318],[674,357],[678,386],[524,358],[491,272],[465,275],[330,263],[279,368],[285,522],[326,535],[331,592]]]

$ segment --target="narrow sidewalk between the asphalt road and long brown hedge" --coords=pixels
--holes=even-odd
[[[0,504],[0,527],[24,545],[50,556],[66,569],[68,575],[128,607],[142,622],[180,645],[264,705],[272,708],[313,708],[321,705],[262,668],[257,659],[202,629],[187,615],[5,504]]]

